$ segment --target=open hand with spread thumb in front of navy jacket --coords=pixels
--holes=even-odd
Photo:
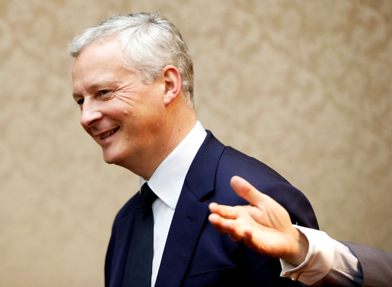
[[[234,241],[244,242],[251,250],[299,265],[308,252],[306,237],[292,226],[289,213],[275,200],[259,192],[242,177],[230,184],[249,205],[227,206],[210,203],[209,221]]]

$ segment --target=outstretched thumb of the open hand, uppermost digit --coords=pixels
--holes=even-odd
[[[253,185],[247,182],[244,178],[234,176],[230,180],[231,187],[234,191],[250,204],[258,206],[270,197],[258,191]]]

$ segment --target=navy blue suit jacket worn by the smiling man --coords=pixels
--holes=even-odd
[[[278,259],[250,251],[209,223],[210,202],[247,204],[230,187],[234,175],[283,205],[294,224],[318,229],[312,206],[299,190],[260,161],[223,146],[207,131],[175,208],[156,287],[301,286],[279,277]],[[138,194],[114,221],[105,262],[106,286],[122,286],[137,199]]]

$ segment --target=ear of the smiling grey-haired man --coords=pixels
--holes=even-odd
[[[181,75],[175,66],[165,66],[162,69],[165,80],[165,106],[169,106],[172,101],[181,93]]]

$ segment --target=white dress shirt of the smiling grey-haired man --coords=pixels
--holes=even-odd
[[[180,197],[182,185],[188,173],[189,167],[194,160],[197,151],[203,143],[207,132],[199,121],[191,132],[158,166],[148,186],[158,196],[152,203],[154,216],[154,249],[152,259],[151,287],[155,285],[161,264],[163,250],[172,223],[175,206]],[[146,180],[140,177],[140,187]]]

